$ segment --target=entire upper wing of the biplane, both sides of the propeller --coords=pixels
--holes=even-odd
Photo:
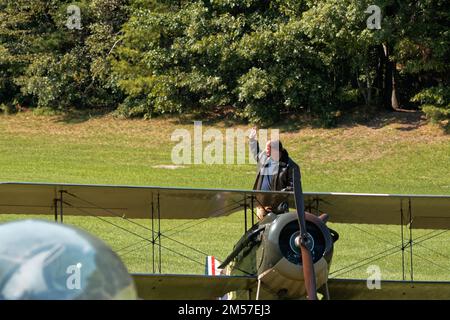
[[[450,229],[450,196],[304,193],[305,208],[327,213],[331,222],[408,224]],[[0,183],[0,214],[125,216],[127,218],[200,219],[223,216],[245,206],[288,201],[292,192],[188,189],[40,183]],[[57,205],[55,207],[55,205]],[[159,210],[158,210],[159,209]]]

